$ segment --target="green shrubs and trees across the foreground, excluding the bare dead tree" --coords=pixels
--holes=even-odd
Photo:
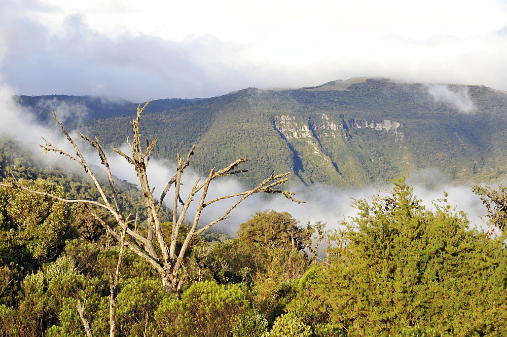
[[[1,334],[81,336],[84,317],[89,335],[106,335],[119,243],[105,233],[80,236],[67,204],[6,188],[0,194]],[[16,206],[31,199],[45,212],[28,220]],[[117,335],[507,333],[502,235],[468,228],[445,200],[427,210],[403,180],[387,197],[355,205],[354,219],[325,233],[330,245],[317,262],[308,248],[318,229],[288,213],[258,212],[234,239],[201,236],[186,256],[181,295],[165,291],[146,261],[125,250]],[[56,236],[44,231],[51,217],[61,220]]]

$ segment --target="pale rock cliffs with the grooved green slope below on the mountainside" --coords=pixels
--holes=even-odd
[[[274,117],[274,128],[286,140],[292,151],[294,168],[298,177],[306,184],[325,182],[341,186],[356,186],[374,182],[375,160],[378,153],[371,153],[365,146],[370,139],[383,139],[383,142],[398,144],[391,146],[388,153],[381,153],[380,159],[400,155],[403,146],[402,124],[391,120],[369,121],[363,119],[345,119],[336,114],[315,114],[307,119],[295,115]],[[370,130],[364,130],[370,129]],[[364,132],[366,131],[366,132]],[[392,162],[392,160],[389,160]],[[409,161],[400,161],[400,170],[411,165]],[[387,177],[390,178],[390,177]]]

